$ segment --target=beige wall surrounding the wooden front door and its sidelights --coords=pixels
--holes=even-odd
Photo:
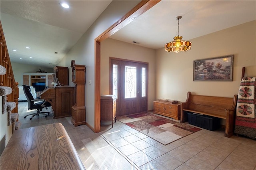
[[[148,63],[148,109],[153,109],[155,99],[155,50],[131,43],[120,42],[111,38],[101,43],[100,60],[100,94],[109,94],[109,57],[129,59],[134,61],[143,61]]]

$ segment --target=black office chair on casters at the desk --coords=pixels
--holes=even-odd
[[[36,115],[38,115],[38,116],[45,115],[45,117],[50,115],[50,112],[40,112],[40,111],[42,111],[43,108],[48,109],[47,107],[50,107],[51,104],[49,102],[45,101],[44,99],[34,99],[32,93],[30,91],[30,86],[27,86],[27,85],[22,85],[22,86],[23,86],[24,94],[28,100],[28,110],[37,110],[37,113],[29,114],[29,115],[32,115],[30,120]],[[24,118],[26,118],[29,115],[26,115]]]

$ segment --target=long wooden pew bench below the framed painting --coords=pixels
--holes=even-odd
[[[188,92],[187,100],[181,103],[180,122],[188,121],[187,111],[212,117],[226,119],[225,136],[230,137],[234,133],[234,120],[236,115],[237,95],[233,98],[192,95]]]

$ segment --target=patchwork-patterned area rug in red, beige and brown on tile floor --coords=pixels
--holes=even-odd
[[[201,130],[151,113],[139,113],[117,119],[164,145]]]

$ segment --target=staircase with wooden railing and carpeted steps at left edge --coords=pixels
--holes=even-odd
[[[4,32],[2,29],[2,23],[0,22],[0,96],[2,101],[1,115],[0,115],[0,128],[1,128],[1,153],[2,144],[8,143],[12,133],[20,128],[21,123],[18,121],[18,97],[19,88],[18,82],[14,80],[12,71],[12,65],[6,41],[4,38]],[[7,114],[7,117],[6,117]],[[6,120],[4,120],[6,119]],[[7,122],[7,123],[6,123]],[[10,130],[11,126],[11,130]],[[7,136],[7,137],[6,137]],[[6,141],[2,142],[6,138]]]

